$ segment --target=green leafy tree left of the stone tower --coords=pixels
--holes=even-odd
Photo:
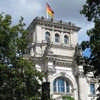
[[[38,100],[41,95],[42,74],[23,57],[28,43],[24,26],[22,17],[12,25],[10,15],[0,14],[0,100]]]

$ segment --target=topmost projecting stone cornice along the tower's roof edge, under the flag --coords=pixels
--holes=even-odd
[[[29,27],[35,26],[35,25],[44,25],[44,26],[49,26],[49,27],[54,27],[54,28],[60,28],[63,30],[73,30],[73,31],[79,31],[80,27],[75,26],[74,24],[72,24],[71,22],[66,23],[63,21],[56,21],[53,19],[46,19],[44,17],[36,17],[32,23],[30,24]],[[28,27],[28,28],[29,28]]]

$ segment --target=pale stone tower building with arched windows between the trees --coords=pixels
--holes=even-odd
[[[83,74],[75,62],[80,27],[71,22],[36,17],[28,27],[28,45],[36,68],[46,74],[50,94],[55,100],[72,96],[75,100],[95,100],[97,80]]]

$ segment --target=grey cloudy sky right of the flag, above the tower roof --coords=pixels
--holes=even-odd
[[[82,6],[86,0],[52,0],[50,5],[55,12],[56,19],[62,19],[66,22],[71,21],[76,26],[81,27],[78,33],[78,42],[81,43],[84,40],[89,40],[86,34],[88,29],[93,27],[93,23],[90,23],[86,18],[80,14]]]

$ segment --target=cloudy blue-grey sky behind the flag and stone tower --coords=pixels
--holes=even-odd
[[[93,27],[93,23],[88,22],[80,14],[85,0],[0,0],[0,13],[10,14],[14,24],[18,22],[20,16],[23,16],[28,26],[35,17],[46,17],[46,2],[53,9],[56,20],[70,21],[81,27],[78,33],[78,43],[89,40],[86,31]]]

